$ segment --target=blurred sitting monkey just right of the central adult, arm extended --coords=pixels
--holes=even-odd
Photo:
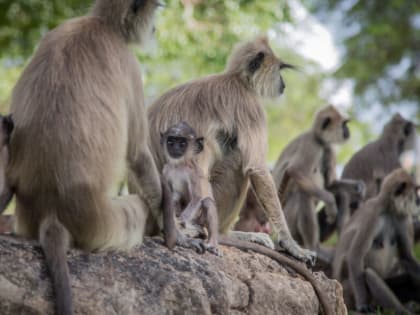
[[[337,205],[327,190],[336,181],[332,144],[350,137],[347,123],[334,106],[324,107],[316,114],[312,128],[286,146],[273,169],[292,236],[326,261],[331,257],[320,248],[315,208],[319,200],[323,201],[327,222],[335,221]]]

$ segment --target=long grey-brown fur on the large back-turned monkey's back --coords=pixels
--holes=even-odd
[[[97,17],[70,20],[45,36],[16,84],[8,180],[21,233],[37,237],[51,211],[73,236],[95,234],[86,222],[107,224],[97,196],[124,171],[127,147],[123,44]]]

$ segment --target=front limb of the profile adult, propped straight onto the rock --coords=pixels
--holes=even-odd
[[[273,227],[276,241],[292,256],[313,265],[316,254],[313,251],[301,248],[290,235],[269,170],[266,167],[251,168],[247,170],[247,173],[257,198],[264,207],[267,218]]]

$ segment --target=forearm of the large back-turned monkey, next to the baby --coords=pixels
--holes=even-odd
[[[142,152],[131,160],[128,170],[128,191],[130,194],[138,194],[145,201],[159,225],[159,230],[162,230],[163,222],[160,210],[162,187],[159,173],[147,145],[144,145]]]

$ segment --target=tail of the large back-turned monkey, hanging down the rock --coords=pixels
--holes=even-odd
[[[47,216],[41,223],[39,240],[52,277],[57,315],[73,315],[67,250],[70,234],[55,215]]]

